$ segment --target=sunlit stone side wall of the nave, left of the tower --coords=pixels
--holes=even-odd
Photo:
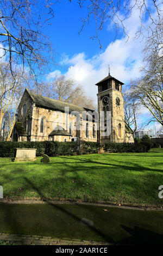
[[[40,132],[41,118],[43,118],[43,132]],[[86,123],[89,123],[89,138],[86,138],[85,135]],[[75,115],[62,113],[60,111],[54,111],[39,106],[33,107],[31,141],[48,141],[48,135],[57,126],[61,126],[66,131],[70,132],[70,124],[72,137],[69,138],[67,136],[67,141],[71,141],[71,138],[74,137],[80,137],[84,141],[97,142],[97,134],[95,138],[93,138],[92,135],[94,123],[91,121],[82,120],[82,114],[80,118],[80,130],[77,130],[77,120]],[[54,139],[55,141],[65,141],[65,138],[65,136],[55,136]]]

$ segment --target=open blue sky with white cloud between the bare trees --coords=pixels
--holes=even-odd
[[[146,1],[150,8],[151,0]],[[131,17],[124,22],[128,29],[129,39],[122,33],[122,27],[118,29],[115,39],[115,27],[106,22],[99,33],[102,48],[96,39],[90,39],[96,34],[95,23],[91,19],[82,33],[78,33],[82,27],[80,17],[86,17],[86,9],[80,9],[77,3],[69,1],[59,2],[53,6],[54,19],[50,21],[51,26],[45,27],[44,31],[52,42],[56,52],[56,66],[51,66],[51,72],[47,74],[49,80],[56,75],[65,75],[81,84],[87,95],[97,100],[97,87],[95,84],[108,75],[108,64],[110,73],[126,85],[131,79],[140,76],[142,66],[142,49],[145,41],[142,38],[135,39],[135,33],[140,28],[140,11],[134,8]],[[123,15],[123,14],[120,14]],[[156,17],[156,13],[152,14]],[[146,17],[143,25],[149,25]],[[127,42],[126,42],[127,41]],[[124,86],[125,87],[125,86]],[[139,123],[149,115],[146,108],[140,109]],[[152,124],[153,126],[153,124]]]

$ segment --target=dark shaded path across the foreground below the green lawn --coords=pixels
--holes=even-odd
[[[162,210],[147,211],[105,205],[49,202],[2,203],[0,239],[17,241],[17,237],[23,244],[29,242],[33,245],[89,245],[91,241],[99,241],[93,242],[95,245],[103,245],[103,241],[106,244],[163,245],[162,220]],[[14,240],[12,235],[6,234],[15,234]]]

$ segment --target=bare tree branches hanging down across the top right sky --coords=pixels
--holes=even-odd
[[[141,23],[140,28],[136,32],[136,38],[138,38],[140,35],[145,36],[145,34],[151,34],[151,32],[154,32],[155,26],[160,24],[162,15],[161,3],[156,0],[150,1],[149,5],[146,0],[79,0],[78,4],[80,8],[87,10],[85,18],[82,19],[83,26],[80,29],[80,32],[83,31],[86,23],[92,23],[95,21],[96,35],[91,36],[91,38],[97,38],[100,46],[101,42],[99,39],[99,32],[103,29],[106,22],[109,21],[115,25],[116,36],[118,27],[121,26],[123,28],[123,33],[129,38],[125,21],[133,14],[135,8],[137,8],[139,10]],[[156,11],[157,14],[156,20],[152,15],[154,11]],[[145,27],[143,22],[146,21],[147,18],[149,18],[150,22]]]

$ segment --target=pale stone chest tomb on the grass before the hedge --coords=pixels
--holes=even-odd
[[[14,161],[35,161],[37,149],[16,148],[16,157]]]

